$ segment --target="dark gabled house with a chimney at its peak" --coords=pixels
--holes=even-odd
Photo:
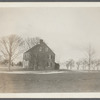
[[[55,53],[40,40],[40,43],[23,54],[23,67],[32,70],[55,69]]]

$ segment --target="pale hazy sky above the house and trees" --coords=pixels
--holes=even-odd
[[[91,44],[100,57],[100,8],[0,8],[0,36],[40,37],[57,61],[84,57]]]

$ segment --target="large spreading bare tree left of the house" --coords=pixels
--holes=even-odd
[[[0,38],[0,52],[2,57],[8,60],[9,70],[12,61],[21,53],[22,45],[23,39],[14,34]]]

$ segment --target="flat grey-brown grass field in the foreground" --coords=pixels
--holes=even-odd
[[[100,92],[100,73],[0,74],[1,93]]]

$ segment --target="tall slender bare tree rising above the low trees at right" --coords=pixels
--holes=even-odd
[[[91,47],[91,45],[88,46],[86,49],[86,60],[88,63],[88,70],[92,67],[92,62],[94,60],[95,50]]]

